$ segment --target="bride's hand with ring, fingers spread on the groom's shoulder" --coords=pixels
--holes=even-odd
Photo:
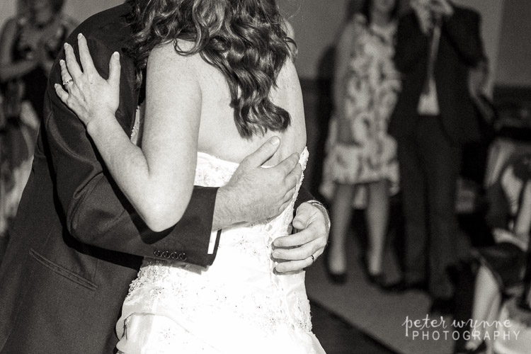
[[[109,78],[98,73],[89,52],[86,38],[78,35],[79,66],[74,49],[64,45],[66,60],[61,60],[62,85],[55,84],[55,92],[78,118],[88,125],[97,120],[114,117],[120,103],[120,55],[113,53],[109,62]]]

